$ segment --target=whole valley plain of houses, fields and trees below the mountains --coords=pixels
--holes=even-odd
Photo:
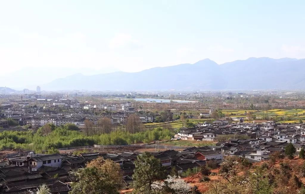
[[[78,169],[109,160],[120,167],[122,185],[117,191],[128,193],[136,189],[137,161],[144,153],[155,158],[166,175],[185,178],[206,168],[217,175],[213,169],[228,160],[249,165],[274,160],[287,155],[291,146],[294,158],[305,147],[304,99],[299,91],[4,88],[0,193],[36,193],[42,185],[52,194],[73,193],[73,185],[83,184]]]

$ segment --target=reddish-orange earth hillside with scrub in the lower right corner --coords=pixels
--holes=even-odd
[[[290,160],[287,158],[284,159],[276,159],[274,163],[270,161],[261,161],[257,163],[253,163],[251,168],[243,168],[241,165],[237,168],[236,171],[236,176],[235,178],[229,177],[229,180],[231,181],[230,178],[234,179],[235,181],[241,180],[241,181],[249,181],[251,180],[251,174],[257,172],[255,169],[257,168],[264,168],[264,165],[267,165],[267,168],[264,168],[262,171],[259,173],[262,175],[260,177],[259,184],[260,186],[263,185],[264,181],[267,181],[266,183],[269,185],[272,185],[271,191],[270,192],[259,192],[259,193],[303,193],[299,192],[302,190],[301,185],[305,184],[305,177],[302,174],[303,173],[303,164],[304,164],[304,159],[300,159],[298,157]],[[230,186],[234,185],[233,182],[229,183],[224,176],[220,176],[220,168],[211,170],[211,172],[214,175],[209,175],[208,177],[210,178],[210,181],[203,182],[203,175],[201,173],[197,173],[195,175],[188,176],[186,178],[183,178],[185,182],[189,183],[191,186],[197,186],[198,190],[201,193],[214,193],[211,191],[211,189],[214,187],[216,188],[217,186],[224,185],[225,189],[232,189]],[[297,178],[295,178],[295,176]],[[264,180],[265,179],[265,180]],[[297,185],[297,182],[300,181],[300,185]],[[281,184],[279,184],[281,183]],[[240,184],[236,182],[235,184]],[[250,187],[249,183],[244,183],[241,188],[243,187]],[[238,192],[238,187],[236,186],[236,193],[247,193],[247,191],[242,191]],[[228,191],[226,190],[226,191]],[[222,190],[224,191],[224,190]],[[219,190],[218,190],[219,192]],[[217,192],[216,192],[217,193]],[[222,192],[221,192],[222,193]]]

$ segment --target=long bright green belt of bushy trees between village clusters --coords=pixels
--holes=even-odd
[[[161,127],[138,133],[120,130],[91,136],[70,129],[74,129],[71,124],[60,127],[41,127],[36,133],[32,131],[4,131],[0,133],[0,149],[21,148],[34,150],[37,153],[54,153],[57,151],[56,149],[63,147],[148,143],[154,140],[170,140],[174,136],[170,130]]]

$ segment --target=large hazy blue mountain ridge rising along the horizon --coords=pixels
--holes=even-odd
[[[268,57],[217,64],[156,67],[135,73],[71,75],[42,85],[44,90],[305,89],[305,59]]]

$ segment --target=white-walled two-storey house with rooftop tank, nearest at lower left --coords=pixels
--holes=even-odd
[[[37,171],[41,166],[61,167],[62,157],[59,154],[37,156],[34,152],[29,153],[28,168]]]

